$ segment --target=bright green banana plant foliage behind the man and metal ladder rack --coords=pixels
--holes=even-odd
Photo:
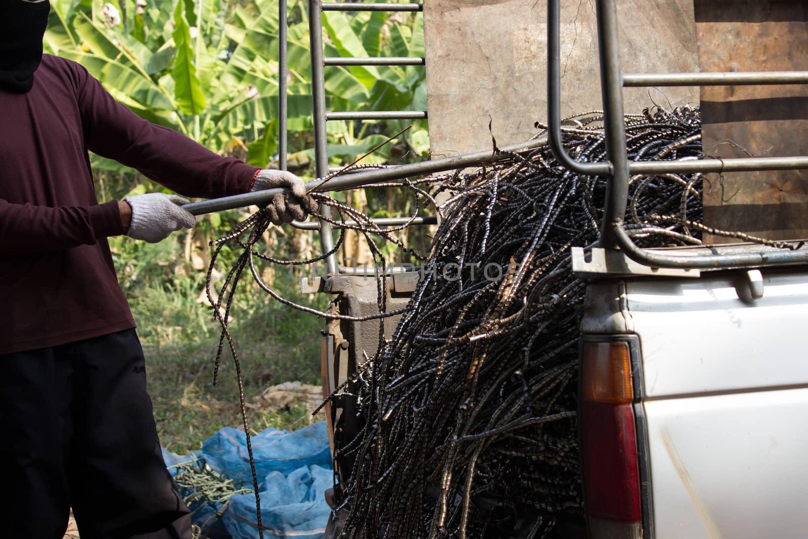
[[[242,5],[249,4],[249,8]],[[297,150],[312,154],[309,24],[305,0],[292,0],[288,27],[288,128]],[[48,52],[85,65],[116,99],[146,120],[173,128],[221,154],[242,149],[265,166],[277,148],[278,13],[275,0],[54,0]],[[105,6],[107,6],[105,8]],[[110,19],[112,6],[118,19]],[[229,15],[225,19],[225,15]],[[326,55],[423,56],[423,19],[386,13],[326,12]],[[426,107],[418,67],[330,67],[331,110]],[[428,149],[426,122],[405,143]],[[329,122],[336,164],[400,128],[389,122]],[[366,162],[386,162],[389,148]],[[121,171],[94,156],[96,169]]]

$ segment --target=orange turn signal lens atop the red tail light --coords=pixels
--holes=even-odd
[[[629,343],[583,343],[583,400],[621,404],[633,401]]]

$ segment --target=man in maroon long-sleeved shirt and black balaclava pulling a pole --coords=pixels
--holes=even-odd
[[[297,176],[222,158],[116,103],[42,54],[48,0],[0,17],[0,522],[2,537],[190,539],[162,461],[135,323],[107,237],[157,242],[195,219],[179,196],[98,204],[87,150],[186,196],[290,187],[276,223],[314,209]]]

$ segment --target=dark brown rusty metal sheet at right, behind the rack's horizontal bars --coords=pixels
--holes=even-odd
[[[802,0],[695,0],[694,8],[701,70],[808,70]],[[701,110],[710,156],[808,155],[808,86],[704,86]],[[808,238],[808,171],[706,179],[705,224],[771,239]]]

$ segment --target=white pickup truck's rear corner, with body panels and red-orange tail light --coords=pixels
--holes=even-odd
[[[591,537],[808,537],[806,318],[806,267],[589,285]]]

